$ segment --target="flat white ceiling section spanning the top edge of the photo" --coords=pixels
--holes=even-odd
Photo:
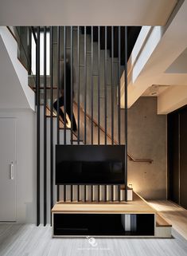
[[[164,26],[177,0],[1,0],[1,26]]]

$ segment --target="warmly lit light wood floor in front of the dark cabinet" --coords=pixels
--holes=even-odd
[[[187,210],[170,201],[157,200],[149,203],[187,240]]]

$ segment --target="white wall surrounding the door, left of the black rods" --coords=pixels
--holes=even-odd
[[[30,109],[0,109],[0,117],[17,119],[17,221],[36,223],[36,113]]]

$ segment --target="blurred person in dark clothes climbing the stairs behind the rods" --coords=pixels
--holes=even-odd
[[[63,69],[64,70],[64,69]],[[68,114],[69,120],[71,120],[71,65],[69,64],[68,58],[65,61],[65,81],[66,81],[66,86],[65,86],[65,108],[66,108],[66,113]],[[73,84],[73,83],[72,83]],[[62,79],[60,80],[60,98],[59,98],[59,114],[64,121],[64,124],[67,124],[68,121],[64,116],[64,112],[62,111],[61,107],[64,106],[64,73],[62,76]],[[72,98],[74,96],[73,88],[72,88]],[[57,100],[54,102],[53,107],[55,108],[57,112]],[[72,110],[72,130],[73,132],[76,132],[76,119],[73,114]]]

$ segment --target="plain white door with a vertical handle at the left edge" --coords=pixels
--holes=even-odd
[[[0,118],[0,221],[16,221],[16,120]]]

